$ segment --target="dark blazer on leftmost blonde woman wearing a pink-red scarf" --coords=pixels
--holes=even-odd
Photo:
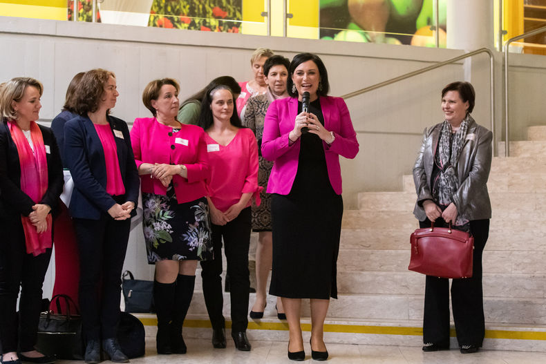
[[[38,124],[38,127],[44,138],[44,145],[49,146],[50,151],[50,153],[46,153],[48,189],[38,203],[48,204],[52,213],[54,213],[64,184],[61,156],[51,129],[40,124]],[[0,216],[28,216],[32,212],[32,206],[36,202],[21,191],[19,153],[11,137],[6,119],[0,122],[0,191]]]

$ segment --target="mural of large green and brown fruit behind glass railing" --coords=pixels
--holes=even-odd
[[[442,48],[446,1],[438,4]],[[320,0],[321,39],[434,47],[433,23],[433,0]]]

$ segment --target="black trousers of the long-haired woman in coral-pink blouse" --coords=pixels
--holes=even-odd
[[[212,224],[214,259],[201,262],[203,295],[211,325],[214,329],[225,327],[222,314],[222,238],[224,238],[227,274],[229,274],[232,303],[232,332],[244,332],[248,326],[248,295],[250,273],[248,271],[248,248],[250,245],[251,209],[247,207],[233,221],[224,226]]]

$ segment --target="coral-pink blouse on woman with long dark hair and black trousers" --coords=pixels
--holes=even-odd
[[[258,143],[252,130],[239,129],[226,146],[218,144],[208,134],[205,134],[205,140],[211,167],[207,189],[214,207],[225,212],[241,200],[243,193],[252,193],[259,205],[262,187],[258,186]]]

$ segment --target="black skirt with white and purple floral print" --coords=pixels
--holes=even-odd
[[[176,198],[142,193],[148,263],[158,260],[211,260],[212,239],[206,198],[178,204]]]

